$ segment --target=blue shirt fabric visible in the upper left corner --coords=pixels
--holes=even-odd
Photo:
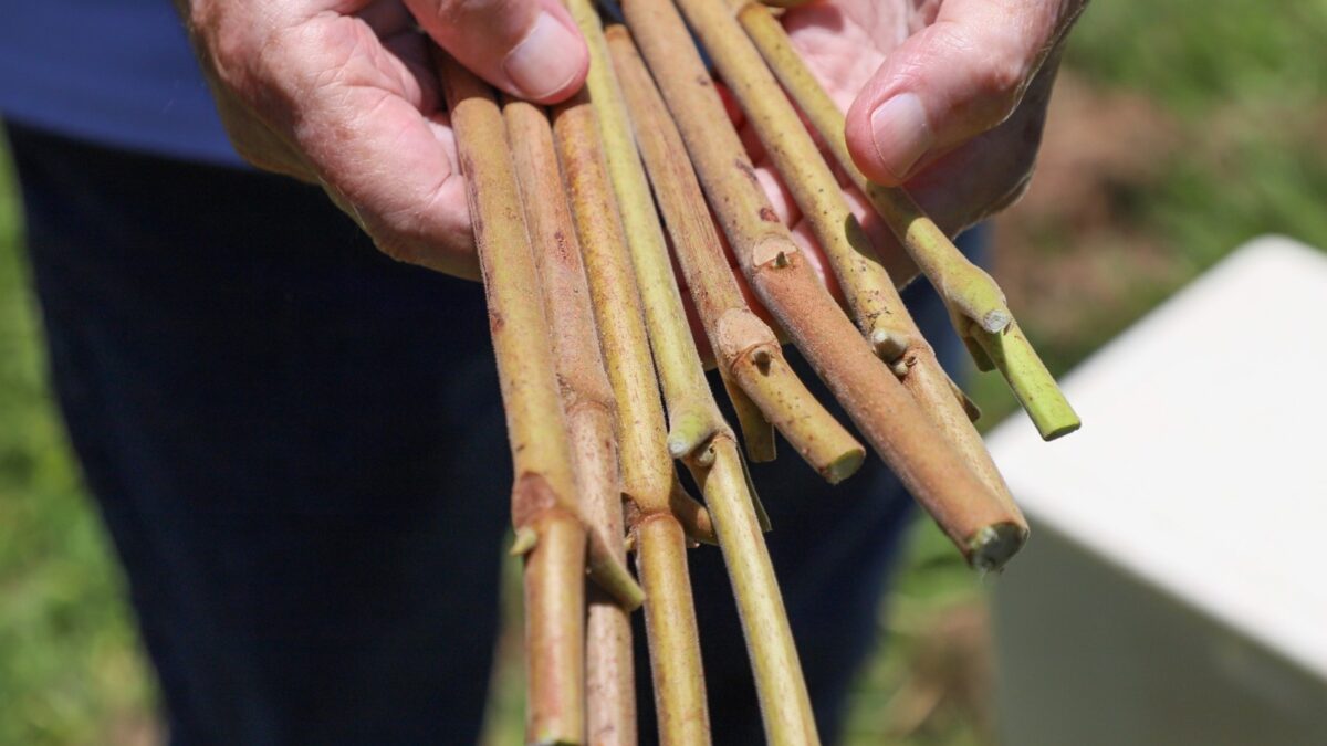
[[[242,165],[170,0],[24,0],[0,23],[0,117],[191,161]]]

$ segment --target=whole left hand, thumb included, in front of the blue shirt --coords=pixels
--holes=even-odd
[[[589,65],[559,0],[176,5],[240,155],[321,185],[385,254],[471,279],[466,188],[429,37],[540,104],[580,89]]]

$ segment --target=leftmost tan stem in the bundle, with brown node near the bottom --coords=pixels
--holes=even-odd
[[[584,568],[587,532],[575,500],[572,451],[555,378],[552,336],[529,247],[502,113],[492,92],[442,53],[456,151],[467,182],[488,303],[515,487],[512,523],[527,554],[527,737],[584,741]],[[593,536],[594,532],[591,532]],[[641,589],[608,547],[591,539],[591,563],[629,607]]]

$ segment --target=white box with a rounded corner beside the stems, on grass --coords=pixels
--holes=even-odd
[[[1246,244],[989,437],[1007,746],[1327,745],[1327,255]]]

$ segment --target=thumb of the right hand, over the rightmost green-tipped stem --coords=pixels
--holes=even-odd
[[[848,110],[853,161],[900,185],[1003,122],[1083,0],[949,0],[898,45]]]

